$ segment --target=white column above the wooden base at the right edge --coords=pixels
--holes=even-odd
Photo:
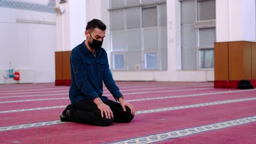
[[[256,41],[255,0],[216,0],[216,40]]]

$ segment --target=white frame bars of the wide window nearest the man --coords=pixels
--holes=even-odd
[[[129,1],[129,0],[124,0],[124,4],[126,5],[126,2]],[[111,2],[111,1],[110,1]],[[111,57],[111,60],[112,60],[112,63],[110,65],[110,68],[115,71],[115,70],[128,70],[128,65],[127,65],[127,52],[140,52],[141,53],[141,62],[139,63],[139,69],[140,70],[161,70],[161,59],[159,58],[159,52],[161,51],[161,47],[160,47],[160,41],[161,41],[161,38],[160,38],[160,28],[162,27],[166,27],[167,28],[167,24],[166,26],[159,26],[160,25],[160,18],[159,18],[159,15],[160,15],[160,8],[159,8],[159,5],[160,4],[166,4],[166,1],[163,1],[163,0],[158,0],[156,3],[150,3],[150,4],[142,4],[142,1],[139,1],[139,4],[138,5],[132,5],[132,6],[125,6],[124,7],[121,7],[121,8],[113,8],[113,9],[109,9],[109,10],[117,10],[117,9],[124,9],[124,29],[119,29],[119,30],[113,30],[113,31],[124,31],[124,50],[114,50],[113,51],[113,45],[112,45],[112,35],[110,35],[110,57]],[[111,4],[111,3],[110,3]],[[141,26],[139,28],[129,28],[127,29],[127,22],[126,22],[126,9],[128,8],[134,8],[134,7],[139,7],[140,8],[140,15],[141,15],[141,20],[140,20],[140,23],[141,23]],[[156,27],[143,27],[143,8],[150,8],[150,7],[155,7],[156,8],[156,13],[157,13],[157,26]],[[166,9],[167,10],[167,9]],[[110,15],[111,17],[111,15]],[[111,20],[111,19],[110,19]],[[110,22],[111,23],[111,22]],[[166,21],[167,23],[167,21]],[[153,29],[153,28],[156,28],[157,29],[157,37],[158,37],[158,40],[156,41],[156,43],[158,43],[156,45],[156,48],[155,49],[147,49],[145,50],[144,49],[144,40],[143,40],[143,30],[144,29]],[[126,44],[126,33],[128,31],[132,31],[134,29],[140,29],[141,30],[141,36],[140,36],[140,39],[141,39],[141,47],[140,47],[140,50],[128,50],[127,48],[127,44]],[[113,32],[110,28],[110,34]],[[166,41],[167,43],[167,41]],[[167,49],[167,47],[166,47]],[[144,61],[145,59],[145,55],[146,53],[149,53],[149,52],[155,52],[156,53],[156,64],[157,64],[157,68],[146,68],[146,62]],[[124,69],[115,69],[114,67],[114,55],[124,55]],[[167,61],[167,59],[166,59]],[[137,65],[135,65],[137,67]],[[167,69],[166,69],[167,70]],[[130,70],[128,70],[130,71]]]

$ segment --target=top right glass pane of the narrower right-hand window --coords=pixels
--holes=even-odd
[[[215,0],[197,1],[197,20],[216,19],[215,15]]]

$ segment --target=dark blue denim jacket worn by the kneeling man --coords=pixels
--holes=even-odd
[[[122,95],[115,85],[109,69],[107,53],[103,48],[96,50],[95,57],[83,41],[71,51],[70,67],[69,99],[71,104],[79,100],[94,100],[98,97],[106,101],[107,97],[102,96],[103,81],[116,100]]]

